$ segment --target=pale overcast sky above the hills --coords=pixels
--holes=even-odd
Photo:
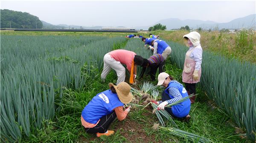
[[[256,1],[24,1],[1,0],[1,9],[28,12],[57,25],[147,26],[159,20],[229,22],[256,13]]]

